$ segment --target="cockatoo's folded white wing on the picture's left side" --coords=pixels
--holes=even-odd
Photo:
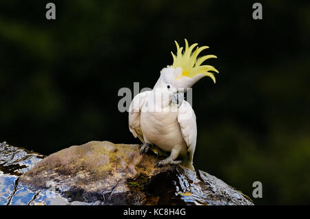
[[[134,135],[134,137],[138,137],[142,141],[142,143],[144,143],[144,139],[142,130],[140,128],[140,113],[141,108],[145,103],[145,100],[147,100],[149,92],[151,91],[145,91],[136,95],[134,97],[134,100],[132,100],[129,108],[130,132],[132,132],[132,135]]]

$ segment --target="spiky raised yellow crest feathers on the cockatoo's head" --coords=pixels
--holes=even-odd
[[[173,52],[171,52],[172,57],[174,58],[174,64],[172,64],[172,67],[174,67],[175,69],[177,67],[181,67],[182,69],[182,75],[176,79],[180,79],[183,76],[193,78],[194,76],[203,73],[205,76],[209,76],[210,78],[212,78],[214,83],[216,82],[213,73],[209,71],[215,71],[216,73],[218,73],[218,70],[216,70],[211,65],[201,65],[208,58],[216,58],[216,56],[207,55],[197,58],[198,54],[200,54],[201,51],[209,47],[207,46],[196,47],[198,43],[194,43],[193,45],[188,47],[188,42],[185,39],[185,51],[182,54],[183,47],[180,47],[176,41],[174,42],[176,43],[176,56],[174,55]],[[195,47],[196,50],[192,52]]]

